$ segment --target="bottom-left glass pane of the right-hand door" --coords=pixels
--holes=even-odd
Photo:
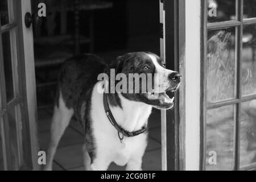
[[[207,111],[207,170],[233,169],[234,106],[224,106]],[[217,163],[211,158],[214,152]]]

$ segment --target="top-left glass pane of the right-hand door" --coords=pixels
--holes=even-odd
[[[208,0],[209,23],[233,19],[236,19],[236,0]]]

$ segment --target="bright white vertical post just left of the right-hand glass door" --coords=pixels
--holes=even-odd
[[[185,0],[185,169],[199,170],[201,92],[201,0]]]

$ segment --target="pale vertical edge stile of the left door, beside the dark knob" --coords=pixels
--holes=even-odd
[[[38,164],[38,127],[37,127],[37,104],[36,104],[36,81],[35,81],[35,61],[34,61],[34,40],[32,25],[27,28],[25,25],[25,14],[31,13],[31,0],[21,0],[20,3],[22,16],[22,44],[24,52],[24,65],[26,75],[26,93],[27,93],[27,107],[28,119],[30,128],[30,143],[32,166],[34,170],[40,169]]]

